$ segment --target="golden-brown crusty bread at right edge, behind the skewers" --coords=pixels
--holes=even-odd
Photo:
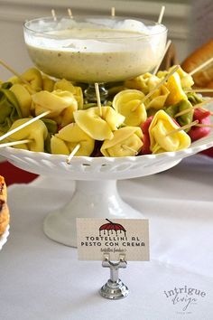
[[[208,61],[213,57],[213,40],[205,43],[195,52],[181,63],[181,68],[190,72],[195,70],[200,64]],[[207,67],[193,74],[195,86],[198,88],[213,88],[213,63],[208,64]]]

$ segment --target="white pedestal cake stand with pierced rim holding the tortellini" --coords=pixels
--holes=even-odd
[[[135,211],[120,198],[116,180],[162,172],[177,165],[184,157],[211,146],[213,133],[178,152],[120,158],[76,156],[70,165],[66,163],[66,155],[35,153],[12,147],[0,149],[0,154],[13,165],[31,173],[54,174],[56,179],[76,180],[76,190],[70,202],[62,209],[50,212],[43,225],[49,238],[76,247],[76,218],[111,220],[145,216],[145,212]]]

